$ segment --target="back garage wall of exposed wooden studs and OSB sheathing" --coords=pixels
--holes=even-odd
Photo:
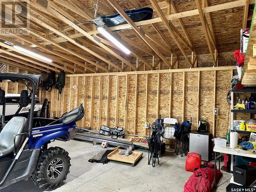
[[[46,97],[51,97],[51,112],[58,112],[57,116],[83,103],[86,114],[78,123],[94,130],[100,125],[121,126],[126,133],[145,135],[144,122],[173,117],[179,123],[183,119],[192,122],[193,130],[204,119],[211,132],[215,126],[216,136],[224,136],[233,68],[201,69],[67,75],[60,104],[56,91]],[[215,106],[219,117],[214,117]]]

